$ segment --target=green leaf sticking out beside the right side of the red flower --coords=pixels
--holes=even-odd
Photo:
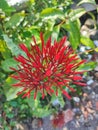
[[[89,71],[89,70],[93,70],[95,67],[96,67],[96,62],[91,61],[91,62],[89,62],[89,63],[82,64],[82,65],[78,68],[78,70],[87,70],[87,71]]]

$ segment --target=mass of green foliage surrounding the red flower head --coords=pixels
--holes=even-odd
[[[98,29],[96,16],[93,11],[84,8],[85,3],[97,11],[94,0],[28,0],[13,6],[6,0],[0,0],[0,114],[3,117],[0,120],[5,130],[13,128],[22,119],[50,115],[58,110],[58,106],[53,106],[55,100],[63,108],[65,103],[60,92],[58,97],[47,96],[44,100],[39,94],[34,101],[33,93],[30,99],[17,97],[19,89],[11,86],[15,81],[9,77],[13,73],[9,67],[17,67],[13,56],[24,55],[18,44],[25,43],[30,48],[33,35],[40,44],[40,32],[43,32],[45,40],[51,36],[52,41],[67,35],[68,43],[76,53],[81,53],[81,46],[89,47],[92,53],[98,52],[94,42],[80,32],[82,17],[86,15],[95,21],[95,28]],[[89,51],[86,50],[82,56],[87,54]],[[96,65],[92,61],[80,69],[92,70]],[[81,90],[77,89],[77,93]]]

